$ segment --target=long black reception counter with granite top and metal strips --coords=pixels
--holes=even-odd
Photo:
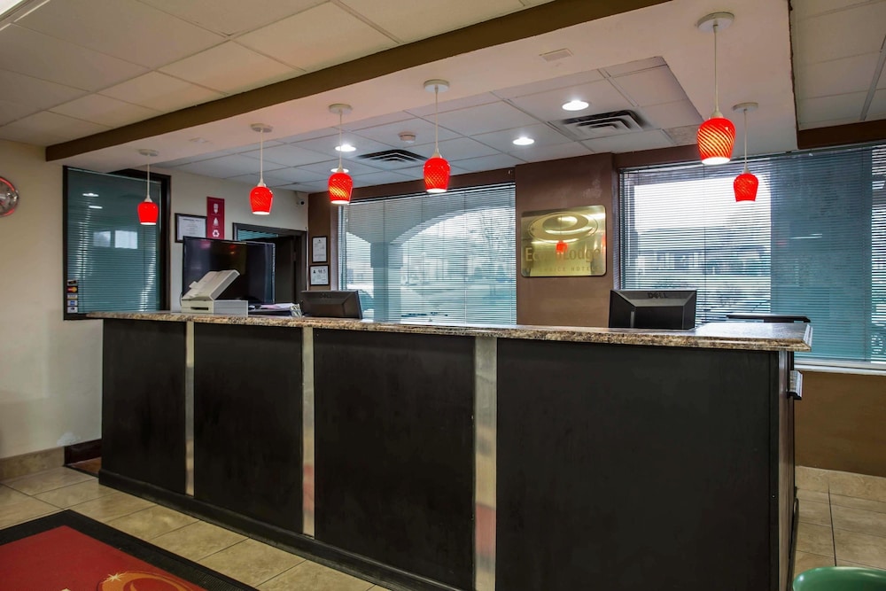
[[[107,486],[391,589],[789,589],[808,324],[90,316]]]

